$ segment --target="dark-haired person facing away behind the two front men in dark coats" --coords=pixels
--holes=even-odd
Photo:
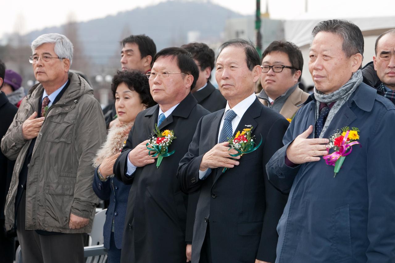
[[[199,78],[196,86],[191,90],[192,95],[205,109],[210,112],[219,111],[226,106],[226,99],[221,92],[209,81],[214,68],[215,54],[213,49],[205,43],[189,43],[181,46],[192,53],[199,68]]]

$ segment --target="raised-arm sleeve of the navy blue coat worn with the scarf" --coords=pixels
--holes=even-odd
[[[296,117],[297,116],[295,116],[295,118]],[[287,131],[285,132],[284,138],[282,139],[281,146],[284,146],[278,149],[266,164],[266,172],[267,176],[269,177],[269,181],[284,193],[290,192],[293,180],[300,169],[300,165],[289,167],[285,163],[287,148],[295,139],[294,137],[296,137],[293,134],[295,118],[292,120]]]

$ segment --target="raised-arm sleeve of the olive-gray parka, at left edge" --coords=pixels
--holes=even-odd
[[[26,98],[23,99],[20,109],[24,109]],[[21,111],[17,111],[11,125],[9,126],[6,135],[1,140],[1,150],[9,160],[16,160],[23,145],[28,141],[23,138],[22,125],[27,118],[21,119],[23,115]]]

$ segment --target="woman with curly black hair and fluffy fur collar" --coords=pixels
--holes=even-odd
[[[109,200],[103,227],[104,247],[108,249],[109,263],[119,263],[131,185],[114,177],[113,166],[128,139],[137,114],[156,103],[152,100],[147,76],[137,70],[118,71],[113,77],[111,91],[118,118],[114,120],[107,141],[94,159],[96,169],[93,190],[100,199]]]

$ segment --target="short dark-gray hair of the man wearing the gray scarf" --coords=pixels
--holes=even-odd
[[[354,23],[343,19],[322,21],[314,26],[313,37],[319,32],[329,32],[339,36],[343,40],[342,50],[348,58],[357,53],[360,53],[363,58],[362,32]]]

